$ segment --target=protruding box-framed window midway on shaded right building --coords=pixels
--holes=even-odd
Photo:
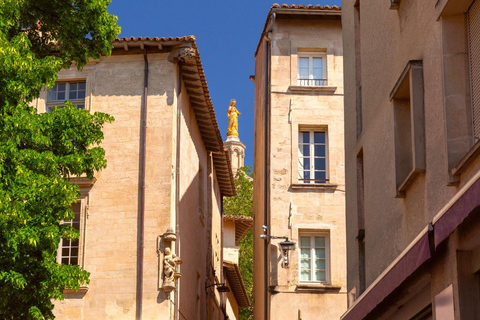
[[[394,114],[396,196],[404,197],[415,177],[425,171],[422,61],[407,63],[390,100]]]

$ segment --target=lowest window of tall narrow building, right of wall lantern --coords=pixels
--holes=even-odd
[[[300,282],[329,279],[329,238],[326,233],[300,234]]]

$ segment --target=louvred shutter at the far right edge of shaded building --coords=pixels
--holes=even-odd
[[[480,1],[468,10],[468,42],[472,90],[472,121],[475,141],[480,139]]]

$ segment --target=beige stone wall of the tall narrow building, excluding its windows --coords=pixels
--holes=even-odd
[[[290,265],[282,265],[279,250],[281,240],[272,240],[270,258],[270,319],[297,318],[299,310],[303,319],[322,314],[325,319],[339,318],[346,310],[346,241],[345,241],[345,192],[344,192],[344,134],[343,134],[343,64],[342,30],[337,21],[277,19],[270,34],[271,52],[271,111],[269,130],[269,233],[286,236],[296,242],[295,251],[289,254]],[[262,110],[263,66],[260,65],[263,48],[256,57],[256,115]],[[333,93],[295,90],[297,84],[298,53],[323,53],[326,57],[328,86]],[[307,91],[309,90],[309,91]],[[258,108],[258,109],[257,109]],[[261,162],[263,146],[261,126],[256,119],[255,144],[255,258],[263,261],[259,239],[263,224],[263,185]],[[327,132],[328,184],[319,187],[299,184],[298,181],[298,132],[302,128]],[[260,221],[261,222],[260,222]],[[330,276],[327,284],[310,283],[301,292],[299,281],[299,233],[302,231],[325,232],[330,240]],[[258,260],[256,260],[258,261]],[[256,262],[255,272],[263,273]],[[255,291],[262,291],[260,276],[254,279]],[[335,287],[325,291],[324,287]],[[299,292],[300,291],[300,292]],[[331,292],[331,293],[328,293]],[[262,318],[262,302],[255,293],[255,315]],[[259,310],[260,309],[260,310]]]

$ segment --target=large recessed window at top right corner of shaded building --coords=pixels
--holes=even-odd
[[[480,150],[480,2],[441,0],[435,7],[442,31],[448,183],[455,185]]]

